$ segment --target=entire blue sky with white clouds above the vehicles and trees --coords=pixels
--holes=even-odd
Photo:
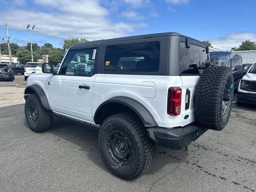
[[[0,37],[9,26],[10,42],[30,41],[62,47],[63,38],[108,39],[158,32],[178,32],[209,40],[230,50],[242,41],[256,41],[255,0],[0,0]]]

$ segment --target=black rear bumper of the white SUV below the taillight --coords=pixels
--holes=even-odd
[[[160,146],[179,150],[198,139],[207,130],[208,129],[203,129],[195,123],[192,123],[184,127],[147,128],[147,134],[149,138]]]

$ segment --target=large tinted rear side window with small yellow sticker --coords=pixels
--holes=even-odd
[[[106,46],[104,70],[116,72],[157,72],[160,42]]]

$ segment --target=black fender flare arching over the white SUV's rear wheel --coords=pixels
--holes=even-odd
[[[102,108],[105,104],[109,104],[109,103],[119,103],[119,104],[123,104],[124,106],[127,106],[139,116],[139,118],[142,120],[142,123],[144,124],[145,127],[157,126],[156,121],[154,120],[152,114],[140,102],[124,96],[112,97],[106,100],[105,102],[103,102],[102,104],[100,104],[100,106],[98,106],[96,112],[94,113],[93,120],[95,123],[96,123],[96,117],[100,108]]]

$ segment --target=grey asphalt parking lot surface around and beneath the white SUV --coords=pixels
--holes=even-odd
[[[26,81],[16,76],[14,82],[0,82],[0,87],[6,86],[25,88]],[[130,181],[105,167],[98,131],[88,126],[54,118],[51,130],[35,133],[20,104],[0,108],[0,131],[3,192],[256,191],[256,106],[234,102],[224,130],[208,130],[186,152],[157,146],[152,168]]]

